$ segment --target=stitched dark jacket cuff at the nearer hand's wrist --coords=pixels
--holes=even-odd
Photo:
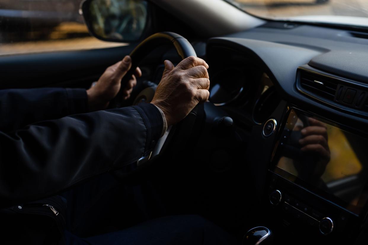
[[[159,109],[151,103],[141,103],[134,106],[141,114],[147,128],[147,138],[145,152],[152,150],[158,139],[161,137],[163,129],[163,119]]]

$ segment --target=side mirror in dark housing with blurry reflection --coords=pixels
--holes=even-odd
[[[145,0],[85,0],[79,14],[91,35],[110,42],[136,42],[148,22]]]

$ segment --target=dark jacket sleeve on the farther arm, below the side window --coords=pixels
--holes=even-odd
[[[87,112],[85,89],[0,90],[0,129],[9,132],[43,121]]]

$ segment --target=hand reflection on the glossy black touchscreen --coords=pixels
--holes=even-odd
[[[326,125],[313,118],[308,119],[311,126],[301,130],[302,136],[299,140],[301,151],[314,153],[319,161],[314,174],[320,177],[325,172],[326,165],[330,161],[330,148],[328,147],[328,135]]]

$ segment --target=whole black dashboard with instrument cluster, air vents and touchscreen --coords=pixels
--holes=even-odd
[[[208,41],[209,100],[249,130],[249,195],[284,244],[365,239],[368,39],[355,34],[272,22]]]

